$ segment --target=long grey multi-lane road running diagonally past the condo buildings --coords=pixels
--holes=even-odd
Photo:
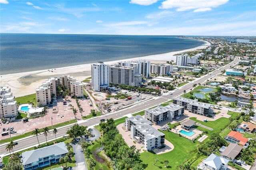
[[[122,117],[122,116],[130,114],[130,113],[135,113],[137,111],[147,109],[148,107],[155,106],[155,105],[160,104],[164,101],[171,100],[174,97],[176,97],[180,94],[183,94],[184,90],[186,90],[186,91],[190,90],[192,88],[193,84],[195,84],[195,83],[196,84],[198,84],[198,83],[202,84],[204,81],[210,79],[211,77],[213,77],[217,74],[220,74],[222,70],[226,70],[226,69],[230,68],[230,66],[238,63],[238,61],[239,61],[239,59],[238,59],[238,57],[236,57],[236,59],[232,63],[227,64],[227,65],[223,66],[222,68],[219,68],[218,70],[215,70],[214,72],[211,72],[210,74],[207,74],[205,76],[197,78],[196,80],[186,84],[185,86],[182,86],[181,88],[178,88],[178,89],[174,90],[172,92],[172,95],[165,94],[163,96],[160,96],[160,97],[156,98],[155,100],[142,102],[138,105],[128,107],[127,109],[122,109],[122,110],[117,111],[115,113],[110,113],[110,114],[107,114],[107,115],[103,115],[101,117],[96,117],[96,118],[88,120],[88,121],[81,121],[81,122],[78,122],[78,124],[79,125],[86,125],[88,127],[93,126],[93,125],[96,125],[96,124],[100,123],[100,119],[102,119],[102,118],[104,118],[104,119],[110,119],[110,118],[116,119],[116,118]],[[64,127],[64,128],[58,129],[58,135],[56,135],[56,136],[61,137],[61,136],[65,135],[68,128],[69,127]],[[54,139],[54,135],[52,134],[52,132],[50,134],[48,135],[47,139],[48,140]],[[40,142],[45,142],[44,135],[39,135],[38,140]],[[32,146],[32,145],[36,145],[38,143],[38,141],[37,141],[36,137],[30,137],[28,139],[18,141],[18,143],[19,144],[14,147],[14,151],[15,150],[20,150],[20,149],[23,149],[23,148],[26,148],[26,147],[29,147],[29,146]],[[6,150],[5,150],[5,147],[6,147],[5,145],[0,147],[0,156],[1,155],[3,156],[4,154],[8,154],[8,152],[6,152]]]

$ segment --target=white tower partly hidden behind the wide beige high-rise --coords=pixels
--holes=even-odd
[[[150,76],[150,61],[145,60],[133,60],[123,61],[118,63],[120,66],[137,66],[136,72],[142,74],[143,77],[148,78]]]

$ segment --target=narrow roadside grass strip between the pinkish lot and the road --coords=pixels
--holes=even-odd
[[[70,125],[72,123],[76,123],[76,120],[73,119],[73,120],[70,120],[70,121],[65,121],[63,123],[59,123],[59,124],[56,124],[56,125],[53,125],[53,126],[49,126],[48,128],[51,130],[51,129],[54,129],[54,128],[57,128],[57,127],[62,127],[62,126]],[[42,131],[43,128],[39,129],[39,130]],[[31,132],[26,132],[23,135],[12,137],[12,141],[15,141],[17,139],[21,139],[21,138],[24,138],[24,137],[28,137],[30,135],[32,135],[32,131]],[[0,141],[0,144],[6,143],[6,142],[10,142],[10,139],[3,139],[3,140]]]

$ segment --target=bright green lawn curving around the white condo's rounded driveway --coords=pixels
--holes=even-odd
[[[165,139],[170,141],[174,145],[174,149],[170,152],[155,155],[154,152],[142,152],[140,154],[140,158],[143,161],[142,163],[146,164],[146,170],[158,170],[158,169],[172,169],[176,170],[177,166],[181,165],[186,160],[190,159],[194,153],[196,152],[197,146],[199,144],[198,141],[192,143],[189,139],[184,137],[179,137],[177,134],[164,131]],[[159,160],[155,163],[155,156]],[[164,160],[169,160],[169,166],[171,168],[164,167]]]

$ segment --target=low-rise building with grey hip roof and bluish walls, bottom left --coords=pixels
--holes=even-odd
[[[55,145],[30,150],[22,153],[22,164],[24,170],[34,170],[50,163],[59,162],[60,158],[66,156],[68,149],[64,142]]]

